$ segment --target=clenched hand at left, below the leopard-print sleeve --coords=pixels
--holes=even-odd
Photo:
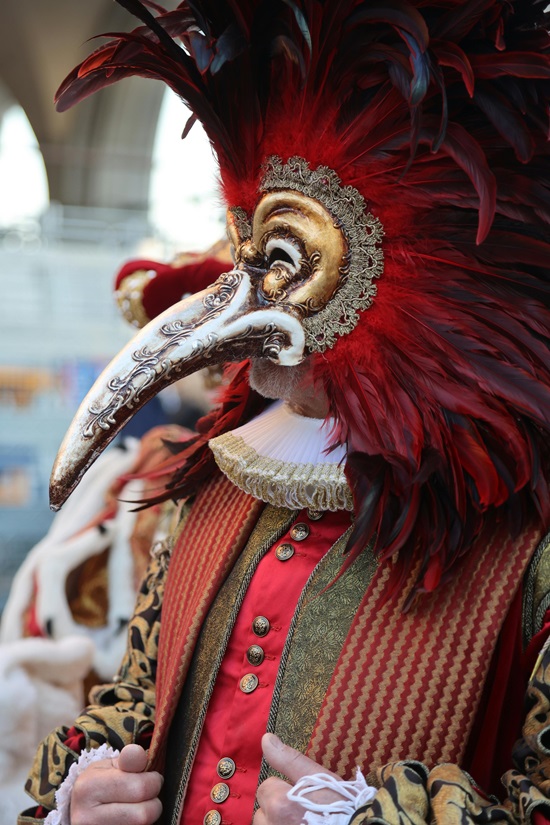
[[[139,745],[88,765],[74,783],[71,825],[154,825],[162,813],[163,778],[146,767]]]

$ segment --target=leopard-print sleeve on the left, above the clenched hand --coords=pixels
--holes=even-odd
[[[153,551],[128,626],[127,652],[112,683],[91,691],[91,704],[73,727],[57,728],[40,744],[25,789],[42,811],[25,811],[20,823],[39,822],[41,815],[55,807],[55,791],[80,750],[104,743],[119,749],[130,743],[147,745],[155,721],[158,638],[168,558],[166,543]],[[78,747],[78,752],[73,747]]]

